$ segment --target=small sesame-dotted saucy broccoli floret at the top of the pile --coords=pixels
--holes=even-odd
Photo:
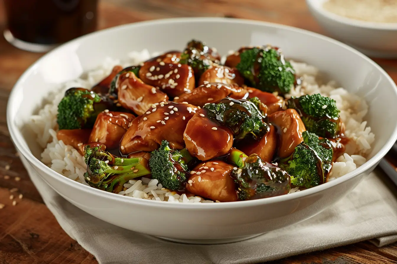
[[[220,63],[216,51],[206,46],[204,42],[191,40],[181,55],[179,63],[192,67],[195,78],[198,80],[213,63]]]

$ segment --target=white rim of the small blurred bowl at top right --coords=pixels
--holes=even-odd
[[[316,4],[319,1],[321,3]],[[328,0],[306,0],[306,4],[310,9],[317,11],[323,17],[326,17],[337,23],[349,25],[352,27],[368,28],[368,29],[376,29],[376,30],[389,30],[389,31],[397,30],[397,23],[372,22],[372,21],[364,21],[364,20],[361,21],[358,19],[343,17],[341,15],[332,13],[322,7],[323,3],[326,1]]]

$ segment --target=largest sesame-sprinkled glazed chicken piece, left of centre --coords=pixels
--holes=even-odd
[[[131,122],[120,142],[121,154],[127,155],[139,150],[151,152],[160,146],[162,140],[170,142],[174,149],[184,148],[183,131],[197,107],[173,102],[153,106]]]

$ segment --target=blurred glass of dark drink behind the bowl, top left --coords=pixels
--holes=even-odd
[[[98,0],[4,0],[4,37],[15,47],[45,52],[93,32]]]

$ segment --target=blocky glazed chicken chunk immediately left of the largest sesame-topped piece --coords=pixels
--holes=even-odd
[[[107,149],[118,148],[119,142],[135,118],[133,114],[104,111],[96,117],[89,142],[100,142]]]

